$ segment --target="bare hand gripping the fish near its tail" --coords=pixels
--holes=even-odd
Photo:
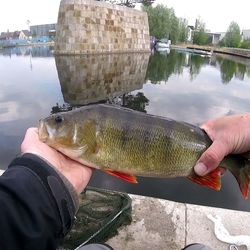
[[[213,143],[194,167],[198,175],[204,176],[217,168],[228,154],[250,151],[250,113],[209,120],[201,128],[206,131]]]

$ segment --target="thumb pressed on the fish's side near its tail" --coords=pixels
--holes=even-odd
[[[219,166],[227,154],[227,145],[223,144],[221,141],[215,140],[197,161],[194,166],[195,173],[200,176],[208,174]]]

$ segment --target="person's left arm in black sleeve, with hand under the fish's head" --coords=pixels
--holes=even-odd
[[[0,177],[0,249],[56,249],[92,170],[40,142],[35,128],[21,151]]]

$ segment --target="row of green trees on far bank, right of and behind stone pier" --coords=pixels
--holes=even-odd
[[[106,1],[134,8],[136,3],[142,4],[142,10],[148,14],[149,33],[157,39],[168,38],[173,44],[188,42],[189,27],[185,18],[178,18],[173,8],[166,5],[152,4],[155,0],[97,0]],[[192,31],[192,42],[197,45],[209,45],[211,36],[206,31],[206,24],[201,18],[196,19]],[[220,40],[221,47],[250,49],[250,39],[242,41],[241,30],[236,22],[231,22],[225,36]]]

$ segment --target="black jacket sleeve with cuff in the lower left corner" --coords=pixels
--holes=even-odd
[[[56,249],[73,224],[75,204],[60,174],[43,159],[14,159],[0,177],[0,249]]]

